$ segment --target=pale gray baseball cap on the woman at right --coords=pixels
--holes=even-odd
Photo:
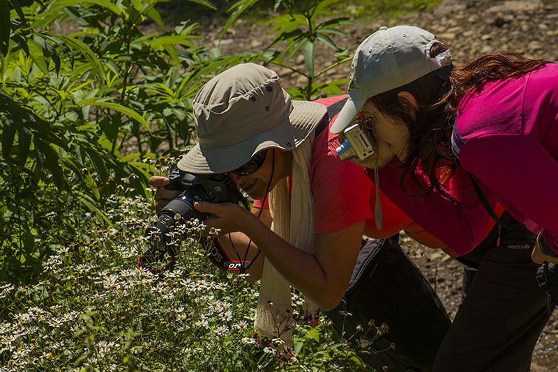
[[[439,42],[436,36],[415,26],[382,26],[368,36],[354,54],[349,99],[331,126],[331,132],[345,130],[368,98],[451,65],[449,50],[430,57],[430,47],[435,42]]]

